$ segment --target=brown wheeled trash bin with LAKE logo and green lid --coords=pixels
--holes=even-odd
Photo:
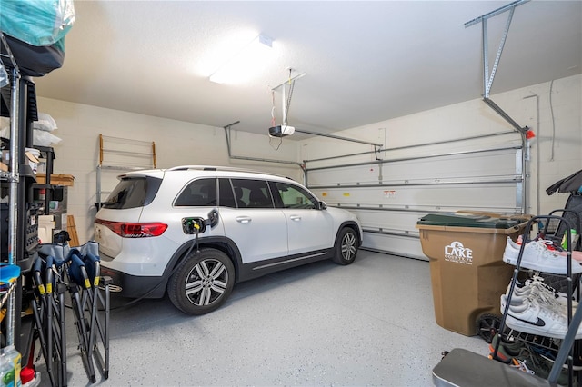
[[[474,336],[477,319],[501,316],[514,266],[503,262],[507,236],[517,240],[524,218],[479,213],[432,213],[416,223],[422,251],[429,259],[437,324]]]

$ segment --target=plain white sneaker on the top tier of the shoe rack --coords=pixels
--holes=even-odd
[[[517,264],[521,245],[513,242],[507,237],[506,250],[503,253],[505,263]],[[521,257],[521,267],[537,270],[539,272],[567,274],[567,259],[554,250],[549,250],[546,243],[542,241],[532,241],[526,243],[524,253]],[[582,265],[577,261],[572,261],[572,274],[582,273]]]

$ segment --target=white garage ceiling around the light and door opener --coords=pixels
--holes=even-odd
[[[330,133],[479,98],[481,25],[465,23],[507,4],[76,1],[65,65],[36,78],[36,91],[198,124],[240,121],[236,130],[266,134],[271,90],[292,68],[306,76],[296,81],[288,123]],[[507,15],[488,22],[491,64]],[[260,74],[247,84],[208,80],[227,39],[259,33],[274,41]],[[581,72],[582,2],[532,0],[516,8],[491,94]]]

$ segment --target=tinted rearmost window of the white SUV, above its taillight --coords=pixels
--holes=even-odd
[[[161,183],[155,177],[122,178],[101,206],[114,210],[146,206],[154,200]]]

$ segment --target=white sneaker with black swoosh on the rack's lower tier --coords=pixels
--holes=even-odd
[[[513,297],[512,297],[513,298]],[[518,332],[539,334],[541,336],[564,339],[567,333],[567,318],[563,313],[557,313],[545,308],[536,300],[523,298],[522,303],[514,303],[512,299],[507,311],[506,324]],[[505,307],[507,295],[501,296],[501,303]],[[578,328],[576,340],[582,338]]]

